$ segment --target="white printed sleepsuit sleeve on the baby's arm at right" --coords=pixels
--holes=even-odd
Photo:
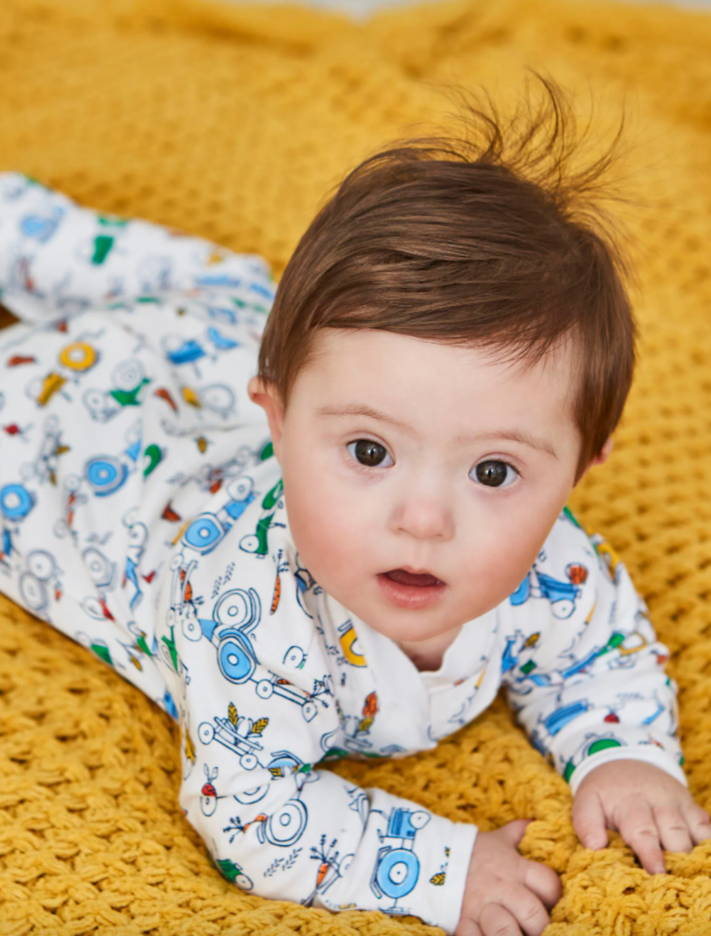
[[[573,795],[590,770],[619,759],[688,785],[669,651],[602,537],[566,509],[508,604],[507,700]]]

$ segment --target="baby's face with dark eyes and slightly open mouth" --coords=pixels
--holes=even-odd
[[[399,643],[455,634],[515,591],[573,489],[572,388],[564,352],[526,371],[483,350],[322,329],[285,415],[250,385],[301,563]],[[439,582],[408,584],[407,571]]]

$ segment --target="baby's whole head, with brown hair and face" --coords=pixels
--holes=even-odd
[[[577,188],[530,181],[560,136],[519,129],[507,159],[480,120],[488,145],[414,141],[341,183],[283,273],[250,383],[301,563],[411,649],[515,591],[609,455],[634,365],[617,252],[571,210],[600,165]],[[408,571],[439,584],[392,580]]]

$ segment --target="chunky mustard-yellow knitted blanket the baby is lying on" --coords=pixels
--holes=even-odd
[[[644,594],[680,689],[691,792],[711,807],[711,16],[586,0],[454,0],[365,24],[207,0],[2,0],[0,169],[81,202],[264,254],[277,273],[346,168],[451,102],[518,94],[530,65],[602,123],[631,113],[641,366],[612,460],[573,507]],[[403,764],[343,775],[483,829],[562,875],[546,936],[707,936],[711,841],[650,877],[617,835],[593,853],[568,785],[502,702]],[[0,599],[0,936],[435,933],[247,895],[176,798],[170,719],[87,651]]]

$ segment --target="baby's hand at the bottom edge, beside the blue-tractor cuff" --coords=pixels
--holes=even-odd
[[[455,936],[541,936],[550,923],[545,907],[560,899],[559,876],[516,849],[530,821],[477,834]]]

